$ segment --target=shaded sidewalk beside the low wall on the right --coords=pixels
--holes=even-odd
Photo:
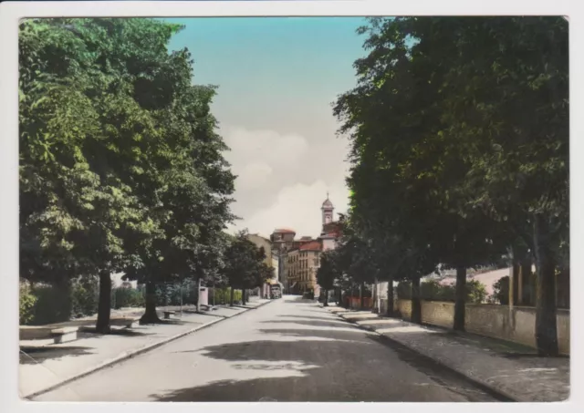
[[[537,357],[534,349],[484,336],[415,325],[368,311],[328,310],[428,356],[495,392],[521,402],[569,398],[569,358]]]

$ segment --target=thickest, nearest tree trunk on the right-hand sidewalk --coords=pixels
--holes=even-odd
[[[534,244],[537,262],[536,344],[539,356],[558,356],[556,260],[550,248],[547,222],[536,215]]]

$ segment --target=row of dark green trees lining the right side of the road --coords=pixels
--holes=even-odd
[[[561,17],[373,18],[358,85],[334,113],[352,191],[339,252],[354,281],[412,283],[456,270],[537,268],[537,349],[558,354],[556,277],[568,271],[568,23]],[[323,265],[328,263],[323,259]],[[322,285],[322,284],[321,284]]]

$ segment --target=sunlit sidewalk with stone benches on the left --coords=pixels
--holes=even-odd
[[[226,318],[240,315],[270,300],[255,299],[242,306],[216,306],[205,314],[193,314],[187,309],[183,316],[164,320],[160,325],[139,325],[135,328],[115,329],[110,335],[79,331],[78,340],[59,345],[44,346],[44,340],[20,342],[19,390],[23,398],[44,393],[72,379],[85,376],[102,367],[118,363],[155,346],[186,336]],[[164,307],[166,309],[166,307]],[[183,307],[184,309],[184,307]],[[141,315],[143,309],[129,309],[125,315]],[[162,308],[159,309],[162,313]],[[180,315],[180,313],[177,313]],[[88,325],[95,318],[72,320],[73,325]],[[67,325],[67,323],[62,323]]]

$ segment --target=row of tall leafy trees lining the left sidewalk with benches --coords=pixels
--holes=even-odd
[[[20,275],[68,288],[99,274],[99,332],[110,330],[112,273],[145,284],[142,323],[159,321],[157,283],[254,284],[225,262],[238,244],[224,232],[235,176],[215,88],[192,84],[187,49],[168,50],[180,29],[144,18],[20,25]]]

